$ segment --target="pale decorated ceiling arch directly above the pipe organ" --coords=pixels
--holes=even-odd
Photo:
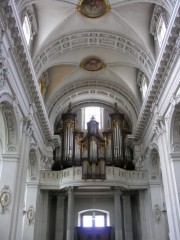
[[[91,101],[103,103],[112,108],[114,103],[117,102],[118,108],[128,119],[131,119],[131,123],[133,124],[132,128],[136,125],[139,109],[138,103],[130,94],[127,95],[121,86],[117,87],[117,84],[115,85],[113,82],[107,83],[101,80],[96,81],[96,83],[91,83],[91,81],[78,81],[73,85],[69,84],[65,86],[61,92],[58,91],[55,97],[47,104],[51,126],[54,126],[58,115],[68,107],[70,101],[73,103],[73,106],[78,106],[82,104],[82,102]]]

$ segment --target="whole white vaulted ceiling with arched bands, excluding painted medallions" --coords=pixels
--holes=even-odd
[[[150,81],[156,62],[150,34],[153,10],[159,4],[171,14],[172,2],[104,1],[109,9],[97,18],[78,10],[83,2],[16,0],[20,14],[29,5],[35,11],[37,34],[31,55],[37,79],[44,72],[48,75],[44,103],[51,125],[69,102],[73,106],[117,102],[135,131],[143,104],[137,75],[140,70]],[[82,68],[83,59],[90,56],[101,59],[105,67],[98,71]]]

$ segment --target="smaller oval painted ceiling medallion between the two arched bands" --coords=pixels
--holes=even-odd
[[[84,58],[80,63],[80,67],[84,68],[87,71],[98,71],[105,66],[106,64],[104,61],[96,56],[89,56],[87,58]]]

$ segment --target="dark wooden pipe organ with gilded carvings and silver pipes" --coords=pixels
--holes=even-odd
[[[52,170],[82,166],[84,179],[105,179],[106,166],[134,170],[132,142],[128,139],[130,131],[117,104],[106,125],[106,130],[101,133],[99,123],[92,116],[87,123],[87,132],[81,132],[77,129],[77,114],[72,112],[70,104],[55,131],[61,143],[54,150]]]

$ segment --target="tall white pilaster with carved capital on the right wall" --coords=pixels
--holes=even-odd
[[[169,144],[165,119],[163,117],[158,117],[154,126],[164,183],[164,195],[169,223],[169,238],[170,240],[178,240],[180,239],[180,208],[177,186],[169,157]]]

